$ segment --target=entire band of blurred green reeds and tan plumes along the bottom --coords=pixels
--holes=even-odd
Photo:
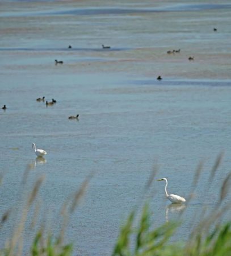
[[[219,155],[216,159],[215,165],[212,168],[211,175],[208,182],[211,183],[215,172],[220,165],[222,155]],[[194,187],[198,182],[200,172],[203,164],[199,164],[195,173]],[[30,169],[30,167],[29,167]],[[25,179],[27,172],[25,172]],[[156,170],[151,175],[145,191],[150,187],[154,179]],[[64,215],[64,223],[58,237],[45,234],[43,228],[36,233],[33,243],[31,245],[30,252],[27,255],[33,256],[70,256],[73,255],[72,243],[64,244],[65,228],[68,224],[68,217],[74,209],[78,206],[79,200],[86,191],[86,187],[91,179],[90,175],[81,185],[81,188],[74,193],[72,199],[65,203],[62,214]],[[142,207],[140,217],[138,216],[138,207],[129,214],[127,221],[120,229],[119,237],[115,243],[112,256],[229,256],[231,255],[231,222],[226,224],[220,224],[221,218],[227,210],[230,209],[230,204],[222,206],[222,201],[228,194],[229,181],[231,178],[231,172],[224,180],[220,189],[220,201],[217,204],[216,209],[207,214],[206,217],[201,217],[199,224],[194,228],[190,238],[186,242],[170,243],[169,239],[174,235],[179,223],[166,222],[158,228],[152,229],[152,223],[150,223],[150,213],[148,204]],[[23,208],[22,216],[20,218],[18,226],[15,228],[15,232],[11,238],[7,241],[5,248],[0,250],[1,256],[19,256],[23,255],[23,241],[20,234],[22,234],[27,216],[36,195],[39,191],[40,185],[43,182],[43,177],[40,177],[30,195],[28,196],[26,206]],[[187,199],[187,204],[190,203],[191,195]],[[8,220],[10,210],[3,214],[0,223],[0,229]],[[204,214],[205,216],[205,214]],[[138,224],[135,224],[137,223]]]

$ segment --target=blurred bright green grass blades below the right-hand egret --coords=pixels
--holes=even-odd
[[[113,256],[221,256],[231,255],[230,222],[217,225],[211,232],[195,233],[187,242],[169,243],[179,224],[166,222],[156,229],[150,229],[148,204],[140,217],[139,227],[133,230],[135,212],[121,228]],[[203,223],[201,223],[203,225]],[[208,231],[209,229],[207,229]],[[205,230],[203,230],[205,231]],[[135,246],[131,247],[131,237],[135,234]]]

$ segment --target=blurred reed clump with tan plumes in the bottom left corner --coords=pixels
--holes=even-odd
[[[33,166],[31,163],[27,164],[26,169],[23,174],[22,185],[26,186],[28,176],[30,175],[30,171],[33,170]],[[78,207],[79,201],[84,196],[86,192],[87,185],[89,181],[93,177],[93,174],[89,175],[85,181],[83,181],[81,187],[78,191],[74,192],[73,195],[70,195],[68,200],[64,202],[62,207],[62,216],[63,223],[62,228],[60,229],[60,233],[57,236],[54,236],[52,233],[47,233],[45,231],[45,226],[41,226],[39,231],[35,233],[35,237],[33,238],[33,242],[31,245],[31,251],[26,252],[27,255],[33,256],[70,256],[72,255],[73,246],[72,243],[64,244],[64,236],[65,230],[68,226],[69,216],[74,212],[74,210]],[[24,241],[23,241],[23,232],[26,229],[26,222],[28,218],[28,213],[30,212],[32,205],[35,206],[35,210],[33,210],[33,217],[31,220],[31,228],[35,227],[37,218],[40,213],[40,203],[37,202],[37,195],[39,194],[40,188],[43,185],[45,180],[45,175],[41,175],[33,184],[31,192],[28,195],[24,195],[22,192],[22,197],[24,197],[24,206],[22,207],[22,212],[20,213],[20,217],[18,220],[18,224],[15,226],[14,232],[12,236],[6,240],[5,247],[0,249],[0,256],[20,256],[24,255]],[[22,190],[23,191],[23,190]],[[23,204],[23,202],[22,202]],[[5,224],[7,220],[11,217],[12,209],[6,210],[5,213],[1,216],[0,219],[0,230],[2,226]],[[16,217],[16,216],[12,216]]]

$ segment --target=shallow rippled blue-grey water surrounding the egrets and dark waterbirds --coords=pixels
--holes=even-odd
[[[178,220],[183,212],[173,240],[186,239],[200,210],[216,208],[230,171],[229,2],[0,5],[0,102],[7,106],[0,112],[0,213],[10,207],[15,212],[2,228],[1,247],[22,207],[21,192],[30,191],[42,174],[37,227],[45,224],[58,232],[62,204],[94,172],[70,217],[67,241],[74,242],[74,255],[110,255],[119,226],[142,199],[153,166],[158,165],[156,177],[168,178],[170,193],[186,197],[204,160],[187,208],[169,205],[163,183],[154,181],[147,195],[155,225]],[[111,48],[102,49],[102,44]],[[175,55],[166,53],[179,48]],[[195,60],[188,61],[189,56]],[[54,59],[64,64],[54,65]],[[57,104],[36,102],[43,96]],[[68,119],[76,114],[78,121]],[[36,159],[32,142],[48,152],[45,160]],[[221,151],[224,158],[208,190]],[[229,201],[230,194],[224,204]],[[28,228],[24,234],[25,247],[31,232]]]

